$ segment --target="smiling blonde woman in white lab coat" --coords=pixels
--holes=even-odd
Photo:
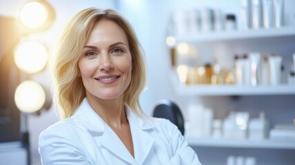
[[[63,120],[39,137],[42,164],[200,164],[174,124],[141,110],[143,53],[117,12],[79,12],[55,50]]]

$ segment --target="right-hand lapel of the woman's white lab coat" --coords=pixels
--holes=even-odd
[[[150,120],[139,118],[127,106],[126,113],[132,133],[134,156],[138,164],[143,164],[154,144],[154,137],[148,133],[154,128],[154,124]]]

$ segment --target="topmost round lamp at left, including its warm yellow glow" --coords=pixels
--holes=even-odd
[[[19,11],[18,19],[21,28],[25,32],[39,32],[52,25],[55,19],[55,12],[46,1],[28,1]]]

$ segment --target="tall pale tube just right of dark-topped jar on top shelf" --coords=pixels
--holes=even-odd
[[[241,23],[242,30],[248,30],[251,28],[251,3],[250,0],[241,0]]]

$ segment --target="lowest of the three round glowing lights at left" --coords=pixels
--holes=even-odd
[[[14,101],[20,111],[34,113],[43,107],[45,91],[39,83],[26,80],[17,87]]]

